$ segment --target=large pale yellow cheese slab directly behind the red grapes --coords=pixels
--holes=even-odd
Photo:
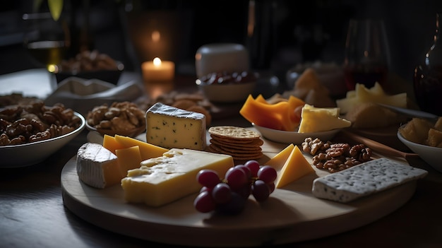
[[[121,179],[121,187],[127,202],[157,207],[198,192],[202,187],[196,180],[200,170],[212,169],[224,177],[233,166],[230,155],[173,148],[162,157],[144,160],[140,168],[129,170],[127,177]]]

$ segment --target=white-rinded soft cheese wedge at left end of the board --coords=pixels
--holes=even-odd
[[[78,178],[91,187],[104,189],[119,184],[124,175],[117,156],[97,143],[85,143],[77,152]]]

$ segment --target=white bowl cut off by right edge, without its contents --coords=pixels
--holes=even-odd
[[[413,153],[417,153],[422,160],[431,165],[431,167],[434,167],[438,172],[442,172],[442,148],[414,143],[404,138],[399,131],[398,138],[405,146],[410,148]]]

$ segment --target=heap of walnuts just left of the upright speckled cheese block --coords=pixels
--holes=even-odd
[[[102,136],[135,138],[145,131],[145,112],[133,102],[113,102],[94,107],[86,116],[86,128]]]

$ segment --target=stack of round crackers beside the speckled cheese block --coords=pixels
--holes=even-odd
[[[261,134],[238,126],[212,126],[208,130],[212,153],[231,155],[234,160],[256,160],[263,157]]]

